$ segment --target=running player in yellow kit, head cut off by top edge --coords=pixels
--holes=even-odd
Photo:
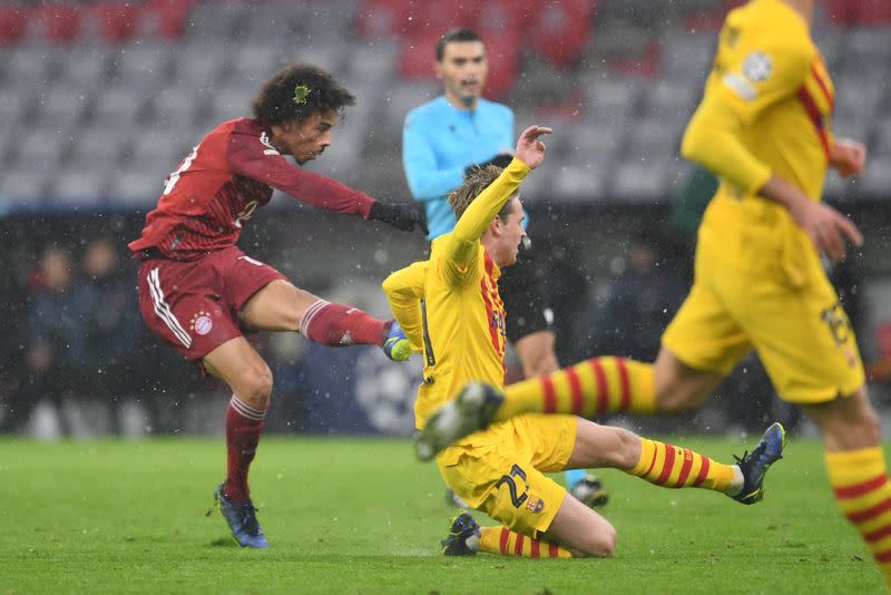
[[[880,427],[853,330],[821,264],[821,253],[839,261],[845,241],[862,243],[820,197],[826,167],[860,174],[865,150],[832,134],[835,90],[811,39],[813,8],[813,0],[753,0],[727,16],[682,144],[721,186],[699,227],[693,289],[655,365],[634,362],[619,382],[604,373],[609,359],[597,358],[515,384],[497,410],[456,435],[527,411],[695,409],[755,349],[779,394],[821,429],[839,506],[891,584],[891,484]],[[470,392],[479,402],[479,391]],[[443,412],[460,412],[456,402]]]

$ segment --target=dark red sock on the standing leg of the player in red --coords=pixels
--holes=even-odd
[[[226,408],[228,475],[223,491],[233,501],[243,503],[251,498],[251,489],[247,487],[247,470],[257,451],[265,418],[265,409],[251,407],[235,394],[229,399],[229,406]]]

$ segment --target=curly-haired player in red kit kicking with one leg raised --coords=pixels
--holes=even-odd
[[[412,205],[380,203],[285,159],[319,157],[354,101],[313,66],[278,71],[254,100],[254,118],[221,124],[170,174],[141,237],[129,244],[141,261],[139,309],[148,328],[232,389],[228,474],[214,497],[243,547],[267,547],[247,471],[272,394],[272,372],[244,331],[294,331],[332,347],[376,344],[394,360],[410,353],[395,322],[295,287],[236,246],[242,226],[270,202],[273,188],[319,208],[427,233]]]

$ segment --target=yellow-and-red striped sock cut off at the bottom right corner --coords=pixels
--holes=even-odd
[[[882,449],[826,452],[825,460],[839,508],[866,542],[891,587],[891,482]]]

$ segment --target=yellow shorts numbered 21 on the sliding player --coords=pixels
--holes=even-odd
[[[542,471],[566,468],[576,445],[575,416],[527,413],[472,433],[437,457],[446,484],[511,530],[548,530],[566,489]]]

